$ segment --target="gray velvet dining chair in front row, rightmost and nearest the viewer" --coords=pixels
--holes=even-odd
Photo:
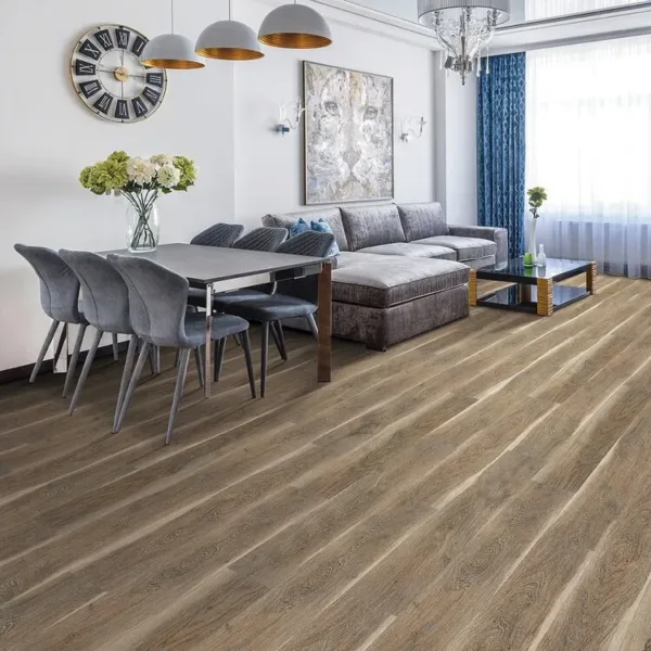
[[[165,443],[169,444],[186,384],[190,352],[201,350],[202,345],[205,344],[205,318],[187,311],[189,283],[182,276],[146,258],[111,254],[108,261],[127,283],[131,327],[144,342],[122,405],[117,429],[124,422],[150,347],[155,345],[180,348],[176,388],[165,437]],[[255,398],[248,321],[232,315],[215,316],[212,329],[213,341],[219,342],[232,334],[241,335],[251,395]]]

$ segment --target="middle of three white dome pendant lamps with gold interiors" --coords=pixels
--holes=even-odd
[[[208,25],[201,33],[194,50],[201,56],[227,61],[252,61],[264,56],[255,31],[244,23],[231,20],[231,0],[228,2],[228,21]]]

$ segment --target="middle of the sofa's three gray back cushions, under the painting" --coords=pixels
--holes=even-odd
[[[350,251],[405,242],[400,216],[394,204],[342,208],[342,219]]]

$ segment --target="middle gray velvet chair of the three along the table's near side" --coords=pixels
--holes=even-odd
[[[133,359],[138,346],[138,335],[131,328],[129,319],[129,294],[127,285],[122,276],[115,270],[113,265],[106,258],[91,253],[89,251],[67,251],[62,248],[59,252],[62,259],[75,272],[81,284],[81,298],[84,302],[84,315],[90,326],[95,329],[95,333],[86,356],[77,387],[71,400],[68,414],[72,416],[77,408],[81,391],[88,379],[88,373],[95,358],[100,341],[104,333],[110,333],[113,337],[117,335],[128,335],[129,347],[127,358],[122,374],[119,391],[117,394],[117,405],[115,417],[113,419],[113,430],[117,426],[117,418],[127,392],[127,385],[133,369]]]

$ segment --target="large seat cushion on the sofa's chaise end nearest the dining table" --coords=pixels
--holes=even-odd
[[[393,256],[388,264],[373,259],[335,269],[332,297],[383,308],[463,285],[469,277],[469,267],[451,260]]]

